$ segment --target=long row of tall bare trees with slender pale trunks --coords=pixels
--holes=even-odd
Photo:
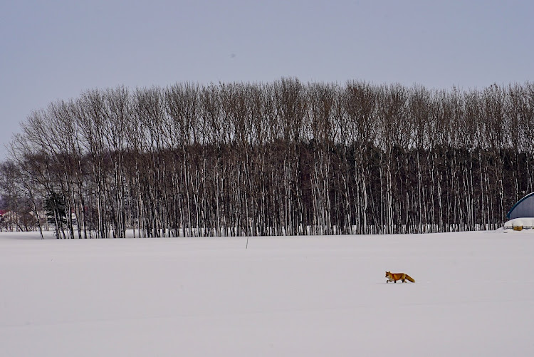
[[[533,132],[531,83],[120,87],[31,113],[0,175],[37,215],[60,197],[71,238],[495,229]]]

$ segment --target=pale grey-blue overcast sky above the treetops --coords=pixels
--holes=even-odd
[[[0,160],[32,110],[90,88],[534,80],[533,1],[0,0]]]

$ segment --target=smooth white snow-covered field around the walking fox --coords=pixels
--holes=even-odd
[[[532,232],[37,238],[0,234],[0,356],[534,356]]]

